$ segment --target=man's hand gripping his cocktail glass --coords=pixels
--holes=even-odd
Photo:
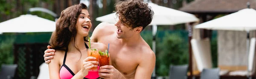
[[[99,77],[104,79],[125,79],[116,68],[112,65],[105,65],[99,68]]]

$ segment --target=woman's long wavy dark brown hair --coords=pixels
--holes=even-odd
[[[56,50],[66,50],[68,44],[71,40],[73,41],[73,46],[80,53],[81,51],[76,45],[76,23],[82,9],[87,9],[87,6],[83,3],[70,6],[61,12],[61,16],[56,22],[56,29],[52,32],[52,36],[49,40],[49,45],[52,49]],[[87,37],[84,37],[84,41],[87,41]]]

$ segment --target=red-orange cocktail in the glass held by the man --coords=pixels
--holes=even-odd
[[[99,51],[99,67],[109,65],[109,60],[110,57],[107,50],[105,52]]]

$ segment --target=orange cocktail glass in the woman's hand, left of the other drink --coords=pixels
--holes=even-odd
[[[96,59],[90,59],[88,61],[97,61],[97,62],[99,62],[99,50],[98,49],[88,48],[87,49],[87,56],[93,56],[93,57],[96,58]],[[94,65],[98,65],[98,64],[94,64]],[[98,67],[90,68],[89,71],[98,71]]]

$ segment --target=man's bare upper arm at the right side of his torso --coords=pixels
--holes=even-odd
[[[156,56],[153,51],[144,55],[142,61],[139,63],[134,79],[151,79],[154,71]]]

